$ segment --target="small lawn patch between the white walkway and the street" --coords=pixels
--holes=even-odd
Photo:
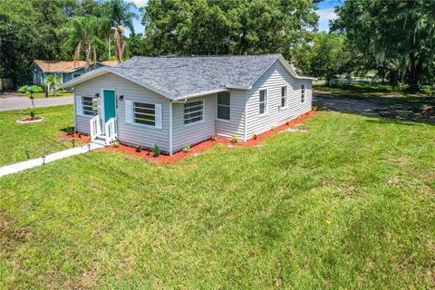
[[[63,129],[73,126],[73,106],[36,109],[38,123],[19,124],[16,120],[30,116],[30,110],[0,112],[0,166],[41,157],[72,146],[71,141],[59,137]]]

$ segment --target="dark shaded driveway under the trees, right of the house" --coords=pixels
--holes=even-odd
[[[434,97],[336,95],[318,91],[314,92],[313,97],[313,105],[323,111],[435,123]]]

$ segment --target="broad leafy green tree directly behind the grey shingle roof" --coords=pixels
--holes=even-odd
[[[314,28],[308,0],[150,0],[142,24],[152,54],[283,53]]]

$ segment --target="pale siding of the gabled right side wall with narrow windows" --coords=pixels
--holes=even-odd
[[[301,103],[301,85],[305,85],[305,102]],[[287,106],[281,108],[281,87],[287,85]],[[267,90],[267,113],[259,114],[259,91]],[[312,109],[313,86],[310,80],[297,80],[275,62],[247,91],[247,139],[253,134],[295,119]]]

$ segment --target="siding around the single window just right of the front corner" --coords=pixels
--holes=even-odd
[[[188,102],[204,101],[203,121],[184,124],[184,103],[172,104],[172,146],[173,151],[182,150],[185,145],[194,145],[215,134],[216,94],[189,99]]]

